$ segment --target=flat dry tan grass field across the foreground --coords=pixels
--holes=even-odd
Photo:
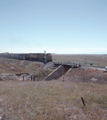
[[[106,120],[107,86],[60,81],[0,82],[0,116],[4,120]]]

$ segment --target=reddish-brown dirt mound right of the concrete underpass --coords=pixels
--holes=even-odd
[[[107,84],[107,73],[97,69],[73,69],[59,80],[71,82],[93,82]]]

